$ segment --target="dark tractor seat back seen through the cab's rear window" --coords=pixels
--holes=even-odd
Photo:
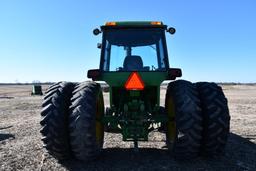
[[[123,67],[124,71],[143,70],[143,62],[140,56],[126,56],[124,59]]]

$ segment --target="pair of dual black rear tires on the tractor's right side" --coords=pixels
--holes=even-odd
[[[175,158],[222,154],[229,134],[230,116],[221,87],[207,82],[171,82],[165,108],[170,120],[166,142]]]

